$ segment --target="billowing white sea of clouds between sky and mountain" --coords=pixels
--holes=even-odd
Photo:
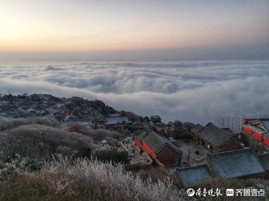
[[[0,93],[100,99],[117,110],[232,127],[234,116],[269,116],[269,61],[0,64]]]

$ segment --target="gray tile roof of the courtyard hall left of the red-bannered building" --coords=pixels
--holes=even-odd
[[[221,146],[224,142],[233,136],[232,133],[229,133],[215,126],[211,122],[202,128],[202,130],[200,130],[197,135],[216,147]]]

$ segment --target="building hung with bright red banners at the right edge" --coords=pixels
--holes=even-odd
[[[269,152],[269,119],[244,119],[241,139],[256,153]]]

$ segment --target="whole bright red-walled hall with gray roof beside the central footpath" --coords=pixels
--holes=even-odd
[[[181,166],[182,152],[171,142],[155,131],[142,130],[135,135],[135,143],[146,152],[157,166]]]

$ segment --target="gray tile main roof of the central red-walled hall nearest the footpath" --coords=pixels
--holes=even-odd
[[[172,144],[172,142],[169,141],[169,139],[159,135],[158,133],[155,133],[155,131],[153,130],[150,130],[145,135],[143,140],[155,154],[160,152],[165,146],[168,146],[175,152],[182,154],[182,152],[174,144]]]

